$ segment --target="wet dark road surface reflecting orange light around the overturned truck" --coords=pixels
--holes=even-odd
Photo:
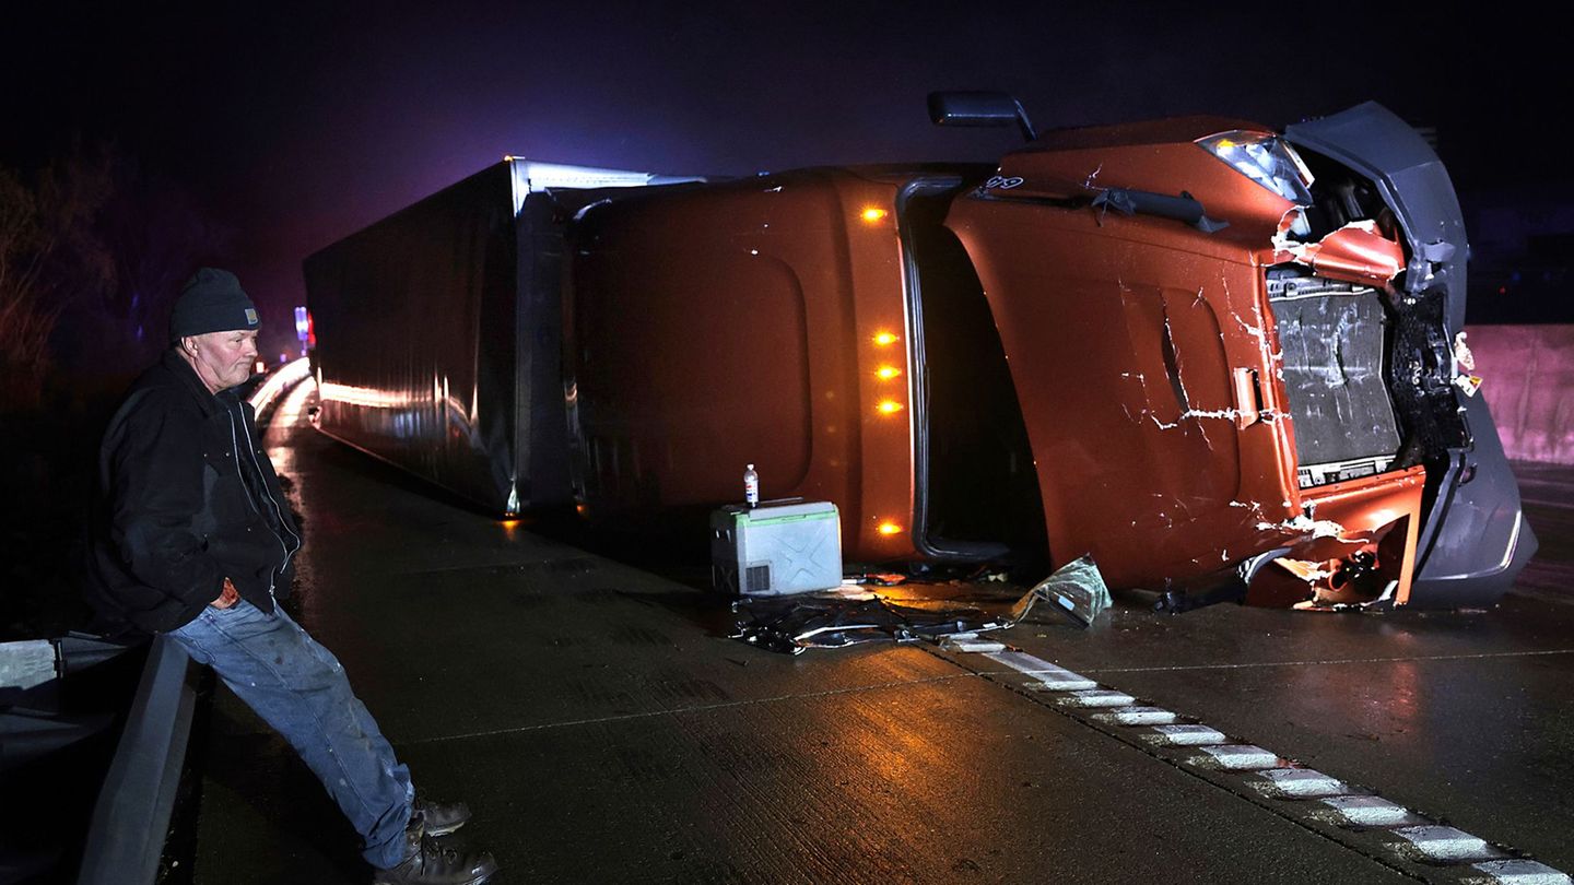
[[[1165,748],[999,661],[785,657],[691,586],[505,526],[301,417],[266,447],[307,546],[299,617],[417,789],[464,798],[494,882],[1461,882],[1316,798]],[[1543,556],[1492,613],[1119,608],[1004,638],[1429,820],[1574,869],[1574,496],[1527,469]],[[195,880],[365,882],[356,835],[219,690]]]

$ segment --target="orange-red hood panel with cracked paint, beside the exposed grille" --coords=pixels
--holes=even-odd
[[[1022,403],[1053,562],[1157,589],[1297,515],[1251,244],[977,189],[951,208]]]

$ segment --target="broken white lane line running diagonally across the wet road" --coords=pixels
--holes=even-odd
[[[1469,869],[1481,877],[1467,876],[1461,882],[1481,885],[1574,885],[1568,874],[1544,863],[1505,857],[1503,850],[1486,839],[1434,824],[1402,805],[1368,795],[1366,791],[1322,772],[1297,767],[1270,750],[1231,743],[1229,735],[1215,728],[1176,721],[1184,717],[1163,707],[1140,705],[1132,694],[1105,688],[1062,666],[1014,650],[982,652],[981,657],[1026,676],[1025,688],[1055,693],[1062,707],[1075,710],[1070,712],[1075,718],[1105,728],[1133,729],[1132,737],[1152,745],[1152,753],[1160,757],[1165,756],[1160,748],[1198,750],[1201,753],[1171,759],[1198,768],[1239,773],[1264,797],[1281,802],[1316,800],[1317,809],[1299,813],[1308,820],[1390,833],[1401,839],[1390,842],[1393,850],[1410,863],[1459,868],[1472,865]]]

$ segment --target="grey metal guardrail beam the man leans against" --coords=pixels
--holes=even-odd
[[[157,877],[197,701],[186,680],[189,665],[178,642],[153,639],[93,806],[77,885],[140,885]]]

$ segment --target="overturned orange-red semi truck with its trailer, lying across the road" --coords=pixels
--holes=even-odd
[[[310,255],[327,435],[499,515],[833,501],[863,562],[1484,606],[1535,553],[1437,156],[1376,104],[740,180],[505,159]]]

